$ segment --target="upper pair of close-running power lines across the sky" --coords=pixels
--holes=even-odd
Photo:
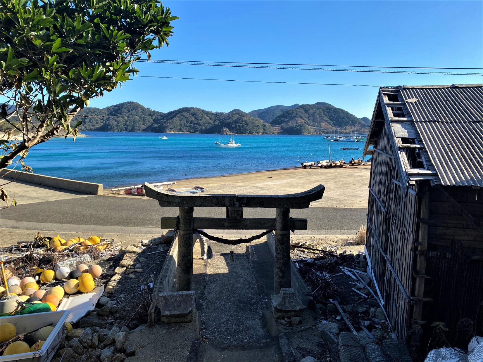
[[[181,64],[181,65],[201,65],[210,67],[230,67],[230,68],[261,68],[261,69],[284,69],[284,70],[322,70],[322,71],[347,71],[361,73],[396,73],[396,74],[435,74],[435,75],[479,75],[483,73],[455,73],[444,71],[419,71],[419,70],[373,70],[373,69],[336,69],[336,68],[308,68],[308,67],[286,67],[286,66],[265,66],[265,65],[248,65],[248,64],[221,64],[221,63],[203,63],[193,61],[177,61],[177,60],[146,60],[140,59],[140,62],[152,62],[160,64]]]

